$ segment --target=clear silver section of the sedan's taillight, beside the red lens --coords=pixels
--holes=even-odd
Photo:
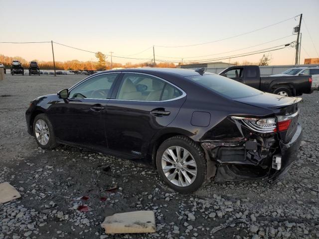
[[[276,118],[256,119],[232,116],[231,119],[238,120],[243,125],[259,133],[272,133],[277,130]]]

